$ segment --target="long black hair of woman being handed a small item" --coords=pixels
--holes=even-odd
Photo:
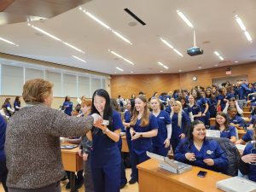
[[[94,106],[94,97],[95,96],[102,96],[103,98],[105,98],[106,100],[106,104],[105,104],[105,108],[103,111],[103,119],[105,120],[109,120],[109,125],[108,125],[108,129],[113,131],[113,122],[112,122],[112,114],[113,114],[113,109],[112,106],[110,104],[110,96],[108,95],[107,90],[103,90],[103,89],[98,89],[96,91],[94,91],[93,95],[92,95],[92,106],[91,106],[91,110],[90,113],[98,113],[98,110],[96,109],[96,107]]]

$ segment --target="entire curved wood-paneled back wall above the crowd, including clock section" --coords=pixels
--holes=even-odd
[[[154,91],[160,93],[183,88],[191,89],[195,85],[208,86],[212,84],[212,79],[227,77],[226,68],[228,67],[232,71],[231,76],[247,75],[249,82],[256,82],[256,62],[252,62],[188,73],[113,75],[111,76],[111,95],[113,98],[119,95],[130,98],[132,93],[137,95],[139,91],[143,91],[147,96],[152,96]],[[197,81],[192,80],[193,76],[197,76]]]

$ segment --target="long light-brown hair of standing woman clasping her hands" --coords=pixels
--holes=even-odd
[[[142,117],[142,121],[141,121],[140,126],[147,126],[149,124],[149,115],[150,115],[150,112],[148,110],[147,100],[146,100],[145,96],[142,96],[142,95],[137,96],[136,99],[140,99],[141,101],[143,101],[145,103],[143,117]],[[130,125],[135,125],[136,124],[138,113],[139,112],[136,110],[136,108],[134,108]]]

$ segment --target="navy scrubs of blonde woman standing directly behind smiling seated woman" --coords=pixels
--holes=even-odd
[[[182,112],[182,125],[181,127],[177,125],[178,118],[177,113],[173,113],[172,115],[172,137],[171,137],[171,145],[173,153],[175,153],[175,149],[177,148],[178,143],[180,143],[180,134],[188,135],[188,128],[190,126],[190,119],[185,112]]]

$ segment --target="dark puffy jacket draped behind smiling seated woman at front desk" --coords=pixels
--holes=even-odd
[[[214,139],[220,145],[220,148],[224,150],[224,153],[229,160],[228,169],[224,174],[230,175],[232,177],[238,175],[239,162],[241,160],[240,153],[236,148],[234,143],[230,142],[228,138],[218,138],[218,137],[207,137],[207,139]]]

